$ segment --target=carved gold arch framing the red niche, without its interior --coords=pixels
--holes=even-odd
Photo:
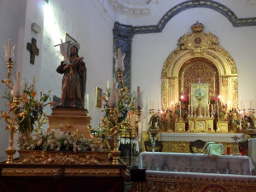
[[[202,24],[201,24],[202,25]],[[195,43],[195,38],[201,38],[201,44]],[[178,47],[168,55],[161,73],[162,108],[171,108],[179,101],[179,77],[183,64],[191,59],[203,58],[211,61],[219,73],[219,94],[222,102],[231,102],[233,108],[238,107],[238,79],[234,59],[228,51],[218,45],[218,38],[211,32],[186,33],[178,40]],[[183,87],[183,86],[181,86]],[[172,104],[174,103],[174,104]]]

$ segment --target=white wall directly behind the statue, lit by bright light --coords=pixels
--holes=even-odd
[[[113,23],[111,25],[108,15],[96,8],[90,0],[49,0],[52,14],[47,12],[51,17],[44,22],[40,90],[53,90],[52,95],[61,97],[62,75],[56,73],[56,68],[62,58],[54,45],[60,44],[67,32],[81,45],[79,56],[84,57],[87,67],[85,94],[90,96],[89,116],[92,127],[97,129],[103,113],[95,107],[96,86],[105,91],[107,81],[112,79]],[[51,113],[49,108],[47,113]]]

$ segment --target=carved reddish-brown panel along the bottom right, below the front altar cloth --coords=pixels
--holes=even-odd
[[[133,182],[131,191],[241,191],[253,192],[256,177],[198,172],[146,171],[146,182]]]

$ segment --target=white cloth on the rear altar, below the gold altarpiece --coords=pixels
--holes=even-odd
[[[243,133],[167,133],[160,132],[159,140],[162,142],[194,142],[202,140],[205,142],[234,143],[231,137],[240,138],[238,142],[247,140],[247,135]]]

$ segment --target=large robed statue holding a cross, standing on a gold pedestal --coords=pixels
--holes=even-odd
[[[80,45],[79,43],[71,45],[69,57],[64,46],[65,43],[60,44],[65,61],[61,61],[61,65],[56,70],[57,73],[64,74],[60,108],[84,108],[86,67],[83,57],[79,57]]]

